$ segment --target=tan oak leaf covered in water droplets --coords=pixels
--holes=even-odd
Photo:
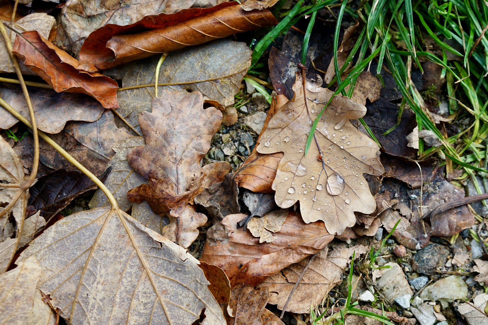
[[[285,152],[272,186],[278,206],[289,208],[300,200],[306,223],[323,220],[329,233],[341,234],[356,223],[354,211],[368,214],[376,208],[363,173],[384,172],[379,147],[349,121],[363,116],[366,107],[337,95],[330,100],[315,132],[322,160],[313,140],[305,156],[310,125],[333,92],[320,87],[321,79],[307,79],[307,111],[302,75],[297,73],[296,79],[295,97],[270,119],[257,150]]]

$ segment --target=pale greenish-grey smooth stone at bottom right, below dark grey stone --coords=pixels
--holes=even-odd
[[[468,285],[460,275],[451,275],[427,286],[420,293],[420,298],[430,301],[443,300],[452,303],[454,300],[466,300]]]

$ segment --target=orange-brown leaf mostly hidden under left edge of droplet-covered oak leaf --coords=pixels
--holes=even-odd
[[[277,95],[276,98],[273,98],[261,134],[266,130],[271,117],[285,105],[287,101],[288,99],[285,95]],[[278,168],[281,158],[283,158],[283,153],[258,153],[258,145],[259,139],[256,141],[256,145],[251,154],[249,154],[249,157],[247,157],[242,167],[236,172],[236,183],[240,187],[244,187],[254,192],[273,193],[274,191],[271,188],[271,185],[276,177],[276,169]]]

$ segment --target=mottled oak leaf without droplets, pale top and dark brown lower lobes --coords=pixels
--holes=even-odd
[[[139,121],[146,145],[131,149],[127,160],[149,181],[127,195],[133,202],[145,199],[158,214],[170,210],[178,217],[203,191],[200,160],[210,149],[222,113],[213,107],[203,110],[199,92],[163,90],[152,102],[152,113],[142,112]]]

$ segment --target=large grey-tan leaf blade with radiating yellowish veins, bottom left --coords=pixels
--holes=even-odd
[[[123,211],[71,214],[18,261],[29,256],[41,266],[37,287],[71,323],[192,324],[205,308],[209,324],[225,324],[198,261]]]

